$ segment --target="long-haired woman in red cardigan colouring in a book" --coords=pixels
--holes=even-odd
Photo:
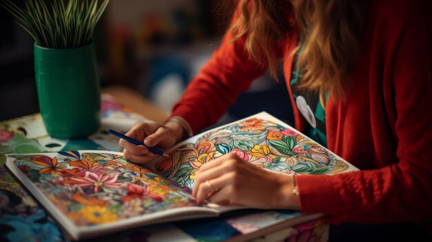
[[[227,154],[200,168],[193,196],[204,201],[217,188],[209,198],[215,203],[297,208],[334,223],[430,223],[429,2],[241,0],[222,45],[172,118],[139,123],[127,135],[168,148],[217,121],[266,70],[276,77],[281,61],[295,128],[362,171],[284,177]],[[316,107],[312,115],[304,103]],[[130,161],[152,159],[144,146],[120,145]]]

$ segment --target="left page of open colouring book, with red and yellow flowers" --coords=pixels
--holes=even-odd
[[[126,161],[119,152],[82,150],[7,156],[8,168],[48,212],[57,211],[57,216],[66,216],[68,223],[77,227],[93,228],[157,212],[166,216],[167,211],[177,208],[202,210],[190,194]]]

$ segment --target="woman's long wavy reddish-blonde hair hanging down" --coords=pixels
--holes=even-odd
[[[292,2],[292,3],[291,3]],[[277,47],[299,30],[296,68],[300,88],[344,97],[348,71],[359,50],[357,32],[362,26],[357,0],[237,0],[237,19],[231,23],[234,39],[244,38],[251,58],[268,65],[277,79]],[[295,15],[294,21],[286,16]]]

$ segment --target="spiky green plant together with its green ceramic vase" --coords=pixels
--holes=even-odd
[[[99,74],[92,35],[109,0],[0,0],[35,40],[39,110],[48,134],[87,137],[100,125]]]

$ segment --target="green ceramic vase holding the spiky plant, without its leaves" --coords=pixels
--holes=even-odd
[[[101,94],[92,44],[49,49],[35,44],[39,110],[48,134],[84,138],[100,126]]]

